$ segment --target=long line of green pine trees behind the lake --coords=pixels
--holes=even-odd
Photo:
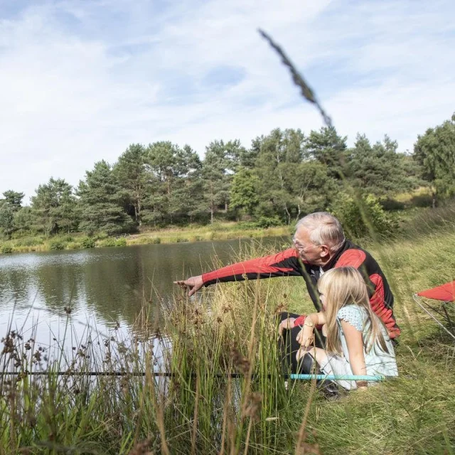
[[[455,114],[417,137],[413,154],[397,151],[387,136],[372,144],[358,134],[353,147],[346,141],[333,127],[308,135],[274,129],[250,148],[213,141],[203,159],[170,141],[132,144],[114,164],[95,163],[76,188],[52,177],[25,206],[23,193],[5,191],[0,233],[119,235],[213,223],[215,216],[267,226],[315,210],[339,211],[355,194],[373,208],[422,184],[431,188],[433,205],[455,194]]]

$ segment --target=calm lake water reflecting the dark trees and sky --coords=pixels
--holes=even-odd
[[[51,357],[62,346],[73,350],[89,333],[98,334],[100,344],[112,333],[127,337],[144,304],[151,323],[159,323],[159,301],[172,301],[173,280],[213,268],[213,257],[230,262],[241,245],[232,240],[1,255],[0,338],[12,328]]]

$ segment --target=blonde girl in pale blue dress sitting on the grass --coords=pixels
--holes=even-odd
[[[397,363],[387,330],[370,306],[368,289],[354,267],[328,270],[318,282],[323,311],[306,316],[297,336],[296,359],[311,355],[327,375],[397,376]],[[312,348],[314,326],[325,325],[326,349]],[[347,390],[367,381],[336,380]]]

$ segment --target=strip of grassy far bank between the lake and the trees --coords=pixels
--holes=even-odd
[[[94,247],[125,247],[128,245],[153,245],[158,243],[202,242],[239,238],[262,238],[289,235],[289,226],[256,228],[252,223],[223,222],[213,225],[191,225],[186,228],[168,228],[139,234],[108,237],[104,234],[87,237],[82,234],[40,235],[0,241],[0,254],[14,252],[42,252],[52,250],[80,250]]]

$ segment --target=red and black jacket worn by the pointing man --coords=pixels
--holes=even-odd
[[[390,338],[400,336],[400,328],[393,316],[393,294],[390,291],[387,279],[385,279],[378,262],[375,261],[368,251],[346,240],[341,250],[323,267],[323,271],[335,267],[355,267],[363,274],[368,286],[371,308],[385,324]],[[317,292],[316,283],[321,277],[319,266],[302,262],[299,253],[294,248],[284,250],[276,255],[258,257],[245,262],[237,262],[221,269],[203,274],[204,286],[210,286],[217,282],[242,281],[244,279],[272,278],[272,277],[304,277],[306,288],[315,308],[321,310],[321,302]],[[300,319],[300,318],[299,318]],[[296,324],[304,322],[297,319]]]

